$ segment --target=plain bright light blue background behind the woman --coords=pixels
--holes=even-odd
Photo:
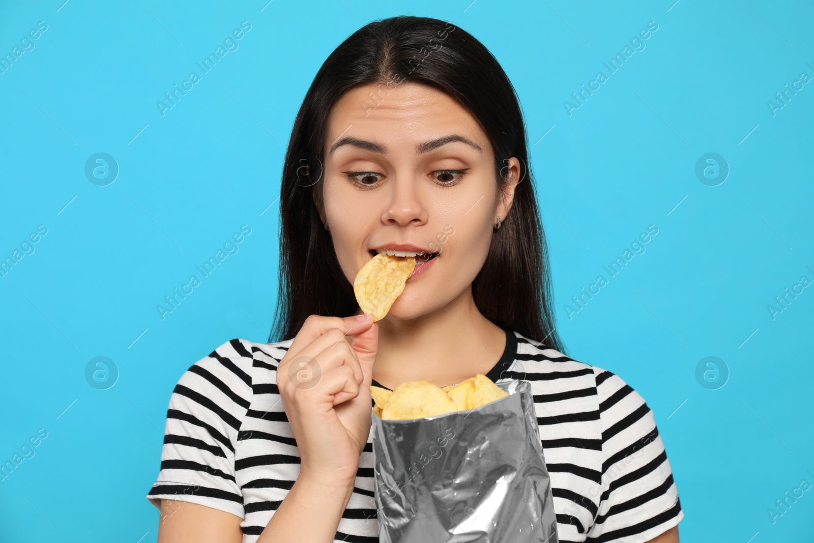
[[[814,77],[811,2],[62,2],[0,2],[2,55],[48,24],[0,74],[0,257],[48,229],[0,278],[0,461],[48,432],[0,482],[0,540],[155,541],[144,496],[173,386],[226,340],[269,334],[282,156],[305,91],[350,33],[409,13],[472,33],[518,90],[558,331],[654,410],[681,541],[812,541],[814,490],[775,523],[768,508],[814,484],[814,287],[767,309],[814,280],[814,82],[767,106]],[[161,116],[155,102],[243,20],[239,49]],[[646,49],[610,74],[651,20]],[[599,70],[608,81],[568,116]],[[85,178],[97,152],[119,165],[109,186]],[[729,163],[719,186],[695,176],[707,152]],[[239,252],[162,320],[155,306],[244,224]],[[569,319],[571,296],[651,224],[646,252]],[[85,381],[97,356],[120,373],[107,390]],[[723,388],[696,380],[707,356],[729,368]]]

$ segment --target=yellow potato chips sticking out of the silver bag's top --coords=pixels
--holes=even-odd
[[[373,412],[383,420],[432,417],[453,411],[475,409],[490,401],[509,396],[484,374],[476,374],[462,383],[439,388],[427,381],[401,383],[395,390],[371,386],[376,403]]]

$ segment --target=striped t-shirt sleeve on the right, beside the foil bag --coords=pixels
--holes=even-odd
[[[602,423],[602,496],[586,541],[650,541],[684,518],[652,409],[619,375],[594,369]]]

